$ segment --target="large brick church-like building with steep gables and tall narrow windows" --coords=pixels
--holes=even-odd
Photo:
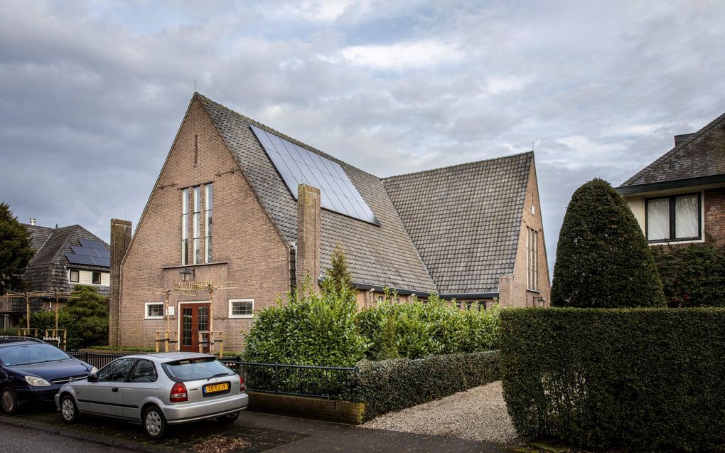
[[[254,312],[317,288],[336,244],[361,309],[384,288],[549,299],[533,152],[378,178],[194,93],[133,238],[112,220],[109,341],[196,350],[222,331],[238,350]]]

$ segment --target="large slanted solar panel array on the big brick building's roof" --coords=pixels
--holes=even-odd
[[[252,126],[252,130],[295,199],[299,184],[317,187],[320,189],[320,204],[323,208],[380,225],[372,209],[337,162],[255,126]]]

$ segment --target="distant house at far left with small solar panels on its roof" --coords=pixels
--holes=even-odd
[[[31,311],[54,308],[56,302],[65,306],[75,285],[93,286],[99,294],[109,294],[108,244],[80,225],[49,228],[36,225],[35,219],[23,225],[35,252],[22,276],[28,284]],[[25,297],[5,298],[3,305],[0,314],[5,328],[17,325],[26,314]]]

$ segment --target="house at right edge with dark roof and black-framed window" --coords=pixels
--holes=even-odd
[[[725,245],[725,114],[626,180],[624,196],[652,245]]]

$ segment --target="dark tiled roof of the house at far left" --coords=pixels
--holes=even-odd
[[[73,253],[70,246],[81,245],[78,239],[101,241],[98,236],[86,230],[86,228],[80,225],[47,228],[27,224],[25,224],[25,228],[28,228],[30,232],[30,245],[36,251],[23,276],[26,282],[30,282],[28,291],[50,291],[51,288],[59,288],[64,293],[72,292],[76,283],[68,281],[67,271],[63,268],[64,265],[73,269],[109,272],[109,267],[71,265],[68,262],[65,254]],[[101,242],[106,249],[110,248],[105,241]],[[108,295],[110,291],[108,286],[95,286],[95,288],[99,294]]]

